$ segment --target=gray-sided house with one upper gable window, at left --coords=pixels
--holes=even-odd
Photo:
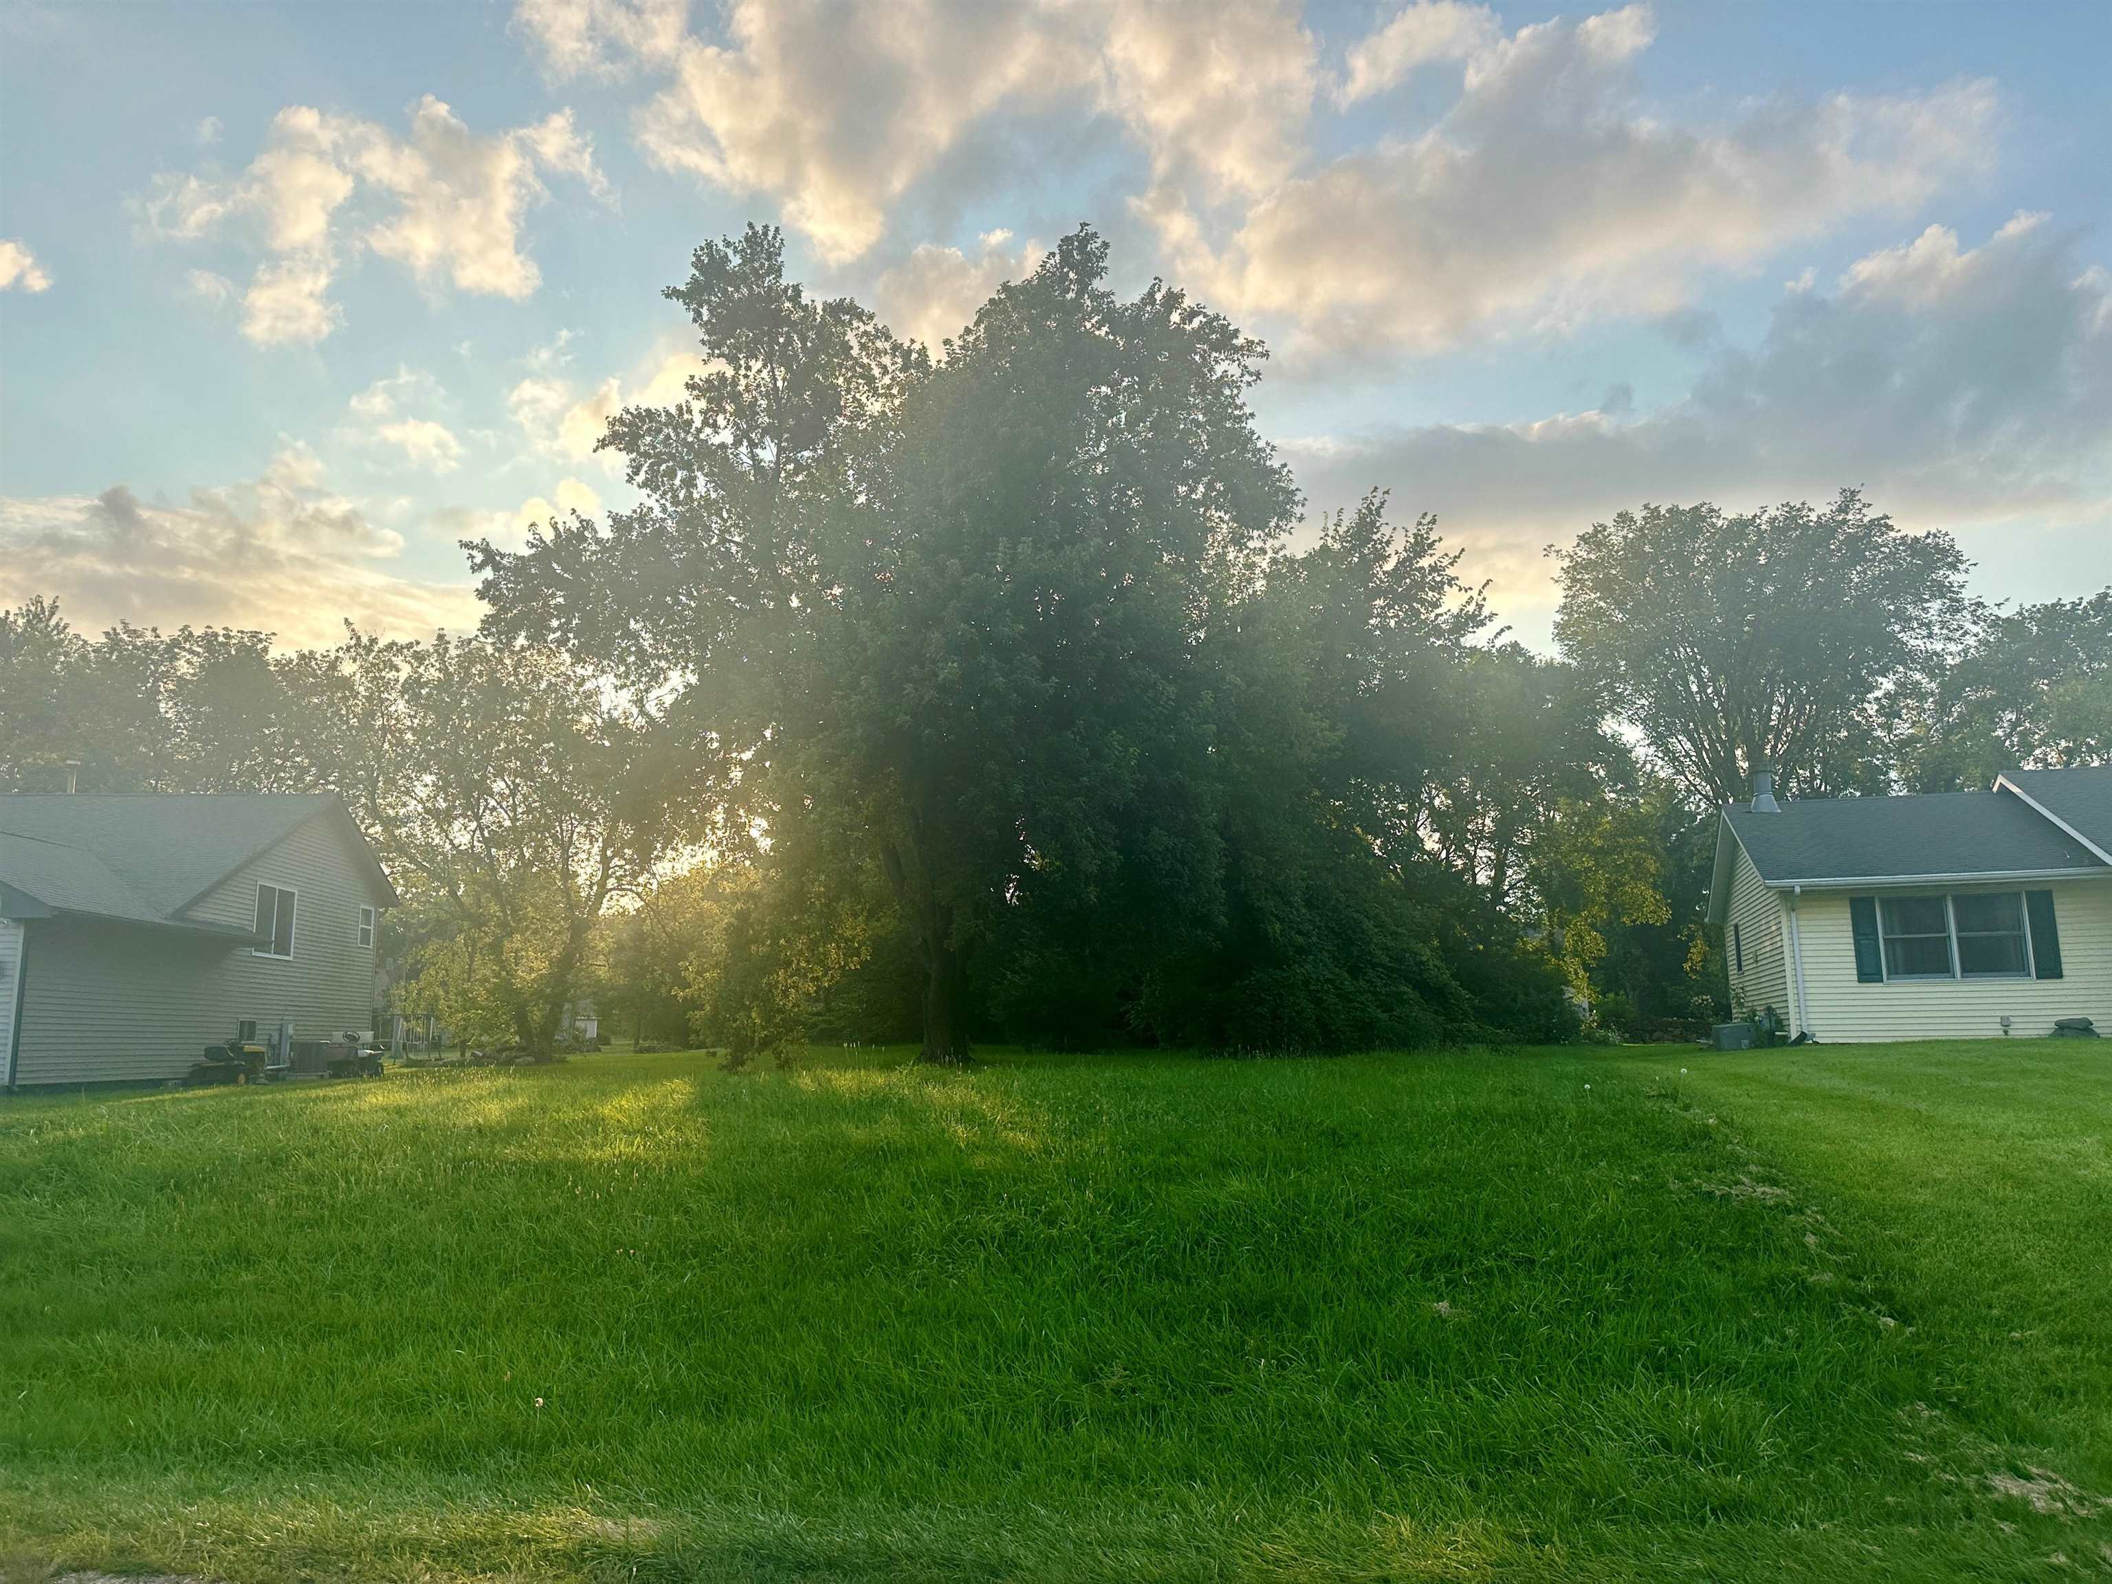
[[[182,1077],[243,1020],[367,1031],[393,902],[329,794],[0,796],[0,1083]]]

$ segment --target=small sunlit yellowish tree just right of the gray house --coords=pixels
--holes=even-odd
[[[287,659],[289,767],[346,798],[422,1010],[547,1056],[608,906],[695,834],[686,741],[549,646],[348,634]]]

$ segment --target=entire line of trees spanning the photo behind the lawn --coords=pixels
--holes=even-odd
[[[2112,591],[2023,610],[1854,492],[1559,555],[1561,659],[1428,520],[1301,524],[1263,348],[1069,237],[934,361],[784,279],[670,291],[708,374],[640,505],[471,547],[484,631],[89,640],[0,615],[0,784],[336,788],[418,1010],[800,1037],[1350,1048],[1709,1016],[1706,813],[2112,750]]]

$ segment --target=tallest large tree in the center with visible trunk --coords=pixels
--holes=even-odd
[[[1119,300],[1092,232],[936,370],[781,268],[775,230],[697,251],[670,296],[712,374],[608,431],[646,505],[477,547],[484,593],[503,631],[678,680],[781,872],[883,876],[923,1052],[961,1060],[999,919],[1212,917],[1200,646],[1297,494],[1246,408],[1261,348],[1166,285]]]

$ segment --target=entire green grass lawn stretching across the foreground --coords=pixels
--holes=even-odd
[[[2112,1571],[2112,1056],[904,1058],[0,1100],[0,1557]]]

